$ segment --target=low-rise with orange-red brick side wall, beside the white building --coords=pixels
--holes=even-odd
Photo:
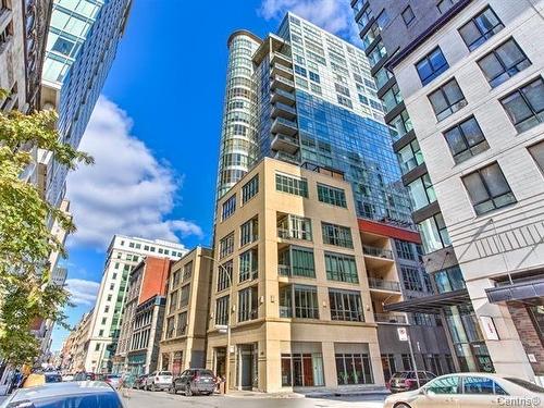
[[[170,259],[147,256],[129,273],[113,372],[156,369],[171,264]]]

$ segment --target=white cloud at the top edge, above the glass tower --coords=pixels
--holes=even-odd
[[[262,0],[259,9],[267,20],[283,18],[288,11],[346,40],[360,44],[349,0]]]

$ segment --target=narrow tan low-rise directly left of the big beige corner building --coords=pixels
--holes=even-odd
[[[158,368],[174,375],[206,364],[211,256],[211,249],[196,247],[172,265]]]

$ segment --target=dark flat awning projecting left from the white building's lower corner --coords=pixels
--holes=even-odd
[[[384,305],[383,308],[386,311],[438,314],[444,307],[466,305],[468,302],[470,302],[468,290],[459,289],[445,294],[418,297],[397,304]]]

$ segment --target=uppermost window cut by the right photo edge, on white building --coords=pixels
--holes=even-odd
[[[544,81],[537,77],[500,99],[511,123],[518,132],[544,122]]]

